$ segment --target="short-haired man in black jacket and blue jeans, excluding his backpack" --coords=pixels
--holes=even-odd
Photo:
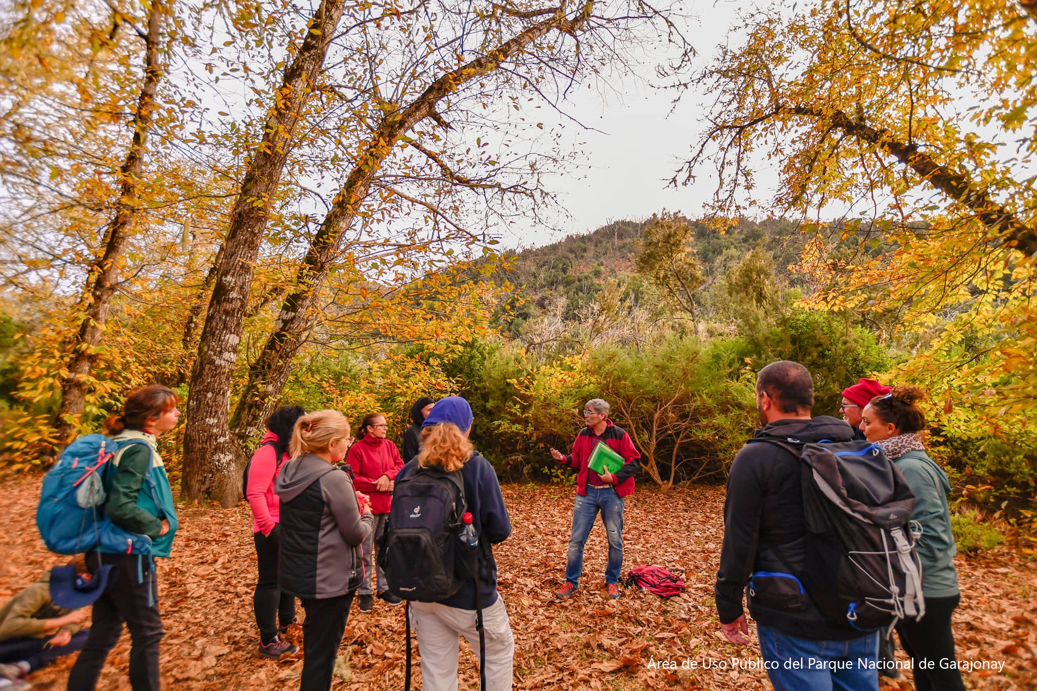
[[[763,428],[731,465],[717,572],[717,611],[728,640],[749,642],[741,605],[742,591],[749,585],[750,613],[756,620],[760,652],[776,691],[878,691],[873,664],[877,634],[829,621],[804,587],[809,574],[801,461],[786,449],[763,440],[853,438],[853,430],[841,420],[811,418],[813,405],[813,381],[803,365],[780,361],[760,370],[756,407]]]

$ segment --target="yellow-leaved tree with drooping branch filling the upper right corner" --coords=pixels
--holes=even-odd
[[[986,431],[1005,414],[1025,428],[1037,394],[1022,355],[1037,344],[1032,9],[822,0],[749,15],[746,41],[694,82],[712,95],[683,171],[719,174],[721,215],[759,203],[762,156],[779,170],[773,210],[865,207],[834,236],[805,227],[812,304],[903,310],[925,349],[897,376],[966,403]],[[868,251],[833,254],[854,241]]]

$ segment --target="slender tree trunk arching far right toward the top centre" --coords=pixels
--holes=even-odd
[[[422,119],[440,118],[436,105],[441,98],[494,71],[540,36],[554,30],[576,34],[590,18],[593,4],[587,2],[571,20],[565,18],[563,8],[559,8],[549,19],[530,26],[487,51],[486,55],[443,75],[409,106],[383,117],[317,230],[292,287],[281,304],[274,333],[249,368],[248,384],[231,420],[231,428],[239,438],[249,438],[258,431],[262,420],[277,405],[281,390],[291,374],[292,358],[313,326],[313,305],[329,266],[338,258],[342,235],[356,219],[371,182],[400,138]]]

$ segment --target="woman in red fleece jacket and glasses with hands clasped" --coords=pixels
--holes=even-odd
[[[396,444],[386,438],[389,425],[386,416],[380,412],[371,412],[364,416],[360,424],[357,443],[349,447],[345,457],[356,478],[354,486],[358,492],[363,492],[371,498],[371,513],[374,514],[374,529],[364,542],[364,582],[357,591],[360,596],[358,606],[361,612],[371,611],[371,564],[374,562],[374,543],[382,539],[389,519],[389,506],[392,503],[393,481],[396,473],[403,467],[403,459],[399,456]],[[382,569],[377,569],[379,597],[396,606],[402,600],[389,592],[389,583]]]

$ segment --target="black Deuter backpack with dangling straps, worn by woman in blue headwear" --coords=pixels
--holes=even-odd
[[[466,581],[477,578],[480,547],[460,541],[465,481],[460,470],[446,472],[436,466],[415,467],[396,480],[389,520],[379,543],[377,564],[389,589],[408,601],[407,675],[411,688],[410,601],[440,602],[457,593]],[[480,688],[486,688],[486,645],[482,629],[479,587],[475,588],[476,629],[479,632]]]

